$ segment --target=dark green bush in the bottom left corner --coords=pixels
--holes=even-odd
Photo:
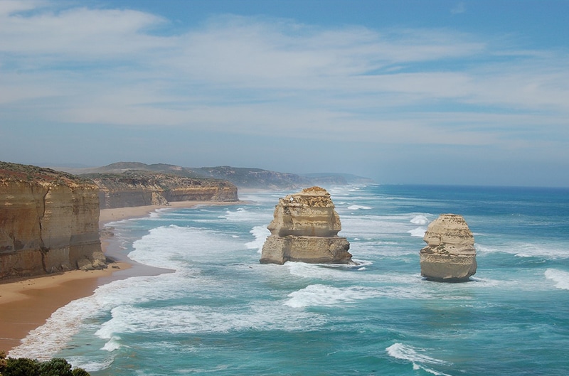
[[[28,358],[6,358],[0,352],[0,376],[90,376],[83,368],[71,370],[71,365],[63,358],[53,358],[38,362]]]

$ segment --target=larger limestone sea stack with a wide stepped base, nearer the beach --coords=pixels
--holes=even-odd
[[[267,228],[271,235],[262,247],[262,264],[352,263],[350,243],[338,236],[340,217],[324,188],[306,188],[280,198]]]

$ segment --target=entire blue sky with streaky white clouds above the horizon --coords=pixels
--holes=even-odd
[[[569,187],[569,0],[0,0],[0,160]]]

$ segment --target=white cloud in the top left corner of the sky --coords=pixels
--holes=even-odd
[[[100,61],[169,46],[167,38],[146,33],[165,22],[151,14],[87,8],[53,11],[35,7],[34,2],[17,4],[10,7],[11,11],[0,11],[0,53],[13,54],[16,60],[39,57],[49,63]],[[35,11],[14,13],[23,10]]]

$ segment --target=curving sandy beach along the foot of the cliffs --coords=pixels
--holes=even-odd
[[[58,274],[0,282],[0,352],[9,354],[30,331],[42,326],[53,312],[71,301],[93,294],[98,286],[131,276],[173,272],[139,264],[120,254],[110,222],[146,217],[158,209],[194,208],[196,206],[238,205],[243,201],[178,201],[170,205],[148,205],[100,210],[101,249],[113,262],[107,269],[83,272],[72,270]]]

